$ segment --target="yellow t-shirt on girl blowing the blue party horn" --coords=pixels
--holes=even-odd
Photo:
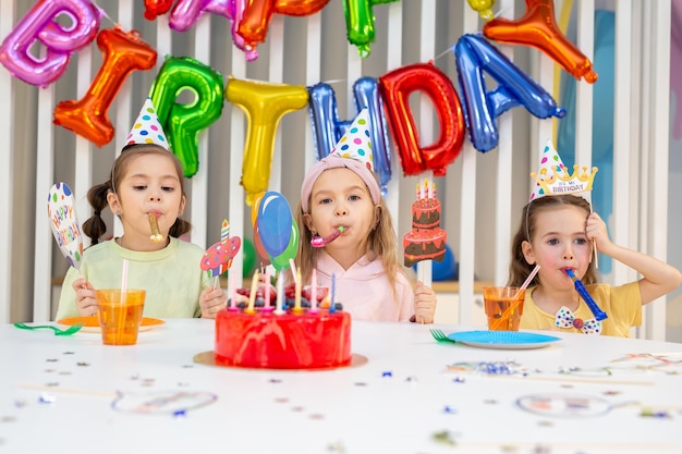
[[[608,284],[585,285],[597,306],[604,310],[608,318],[601,320],[601,334],[630,338],[630,328],[642,324],[642,294],[640,283],[631,282],[625,285],[612,287]],[[520,328],[528,330],[555,330],[563,332],[582,333],[577,328],[559,328],[555,324],[556,314],[548,314],[537,307],[533,300],[532,286],[526,292],[523,303],[523,316]],[[573,311],[575,318],[583,320],[594,319],[589,306],[581,298],[577,310]]]

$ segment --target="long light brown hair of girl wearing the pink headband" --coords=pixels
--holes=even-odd
[[[404,274],[401,262],[398,255],[398,241],[395,240],[395,231],[393,230],[393,221],[391,214],[385,208],[383,197],[381,197],[379,205],[379,221],[377,225],[369,232],[367,240],[367,250],[374,251],[381,260],[381,265],[386,270],[386,275],[391,284],[393,295],[395,295],[395,277],[399,272]],[[375,209],[376,209],[375,207]],[[307,282],[310,279],[313,269],[317,266],[317,257],[322,248],[313,247],[310,240],[313,240],[313,232],[306,226],[303,218],[305,213],[301,207],[301,203],[296,207],[296,223],[301,230],[301,237],[299,238],[299,268],[301,270],[301,278],[303,282]]]

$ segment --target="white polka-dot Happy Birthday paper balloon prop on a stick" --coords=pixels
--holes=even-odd
[[[83,260],[83,234],[76,217],[73,192],[66,183],[56,183],[50,187],[47,217],[59,249],[70,266],[80,269]]]

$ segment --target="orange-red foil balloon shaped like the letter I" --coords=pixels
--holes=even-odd
[[[120,27],[103,29],[97,36],[102,63],[82,99],[61,101],[54,108],[54,124],[65,127],[98,147],[113,138],[109,107],[129,74],[150,70],[156,64],[156,51],[135,30],[124,33]]]

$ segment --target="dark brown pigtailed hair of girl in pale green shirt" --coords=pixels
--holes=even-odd
[[[180,163],[175,155],[154,144],[136,144],[124,147],[121,155],[113,161],[113,165],[111,165],[109,180],[101,184],[96,184],[87,192],[87,201],[93,206],[94,212],[93,216],[83,223],[83,232],[93,240],[93,245],[96,245],[99,238],[107,232],[107,224],[101,219],[101,210],[109,205],[107,203],[107,195],[109,193],[115,194],[115,188],[127,173],[131,162],[139,156],[148,154],[165,156],[173,162],[175,171],[178,172],[178,179],[180,180],[180,191],[182,196],[185,196],[182,163]],[[191,230],[192,224],[179,217],[175,219],[175,223],[170,228],[169,235],[179,237]]]

